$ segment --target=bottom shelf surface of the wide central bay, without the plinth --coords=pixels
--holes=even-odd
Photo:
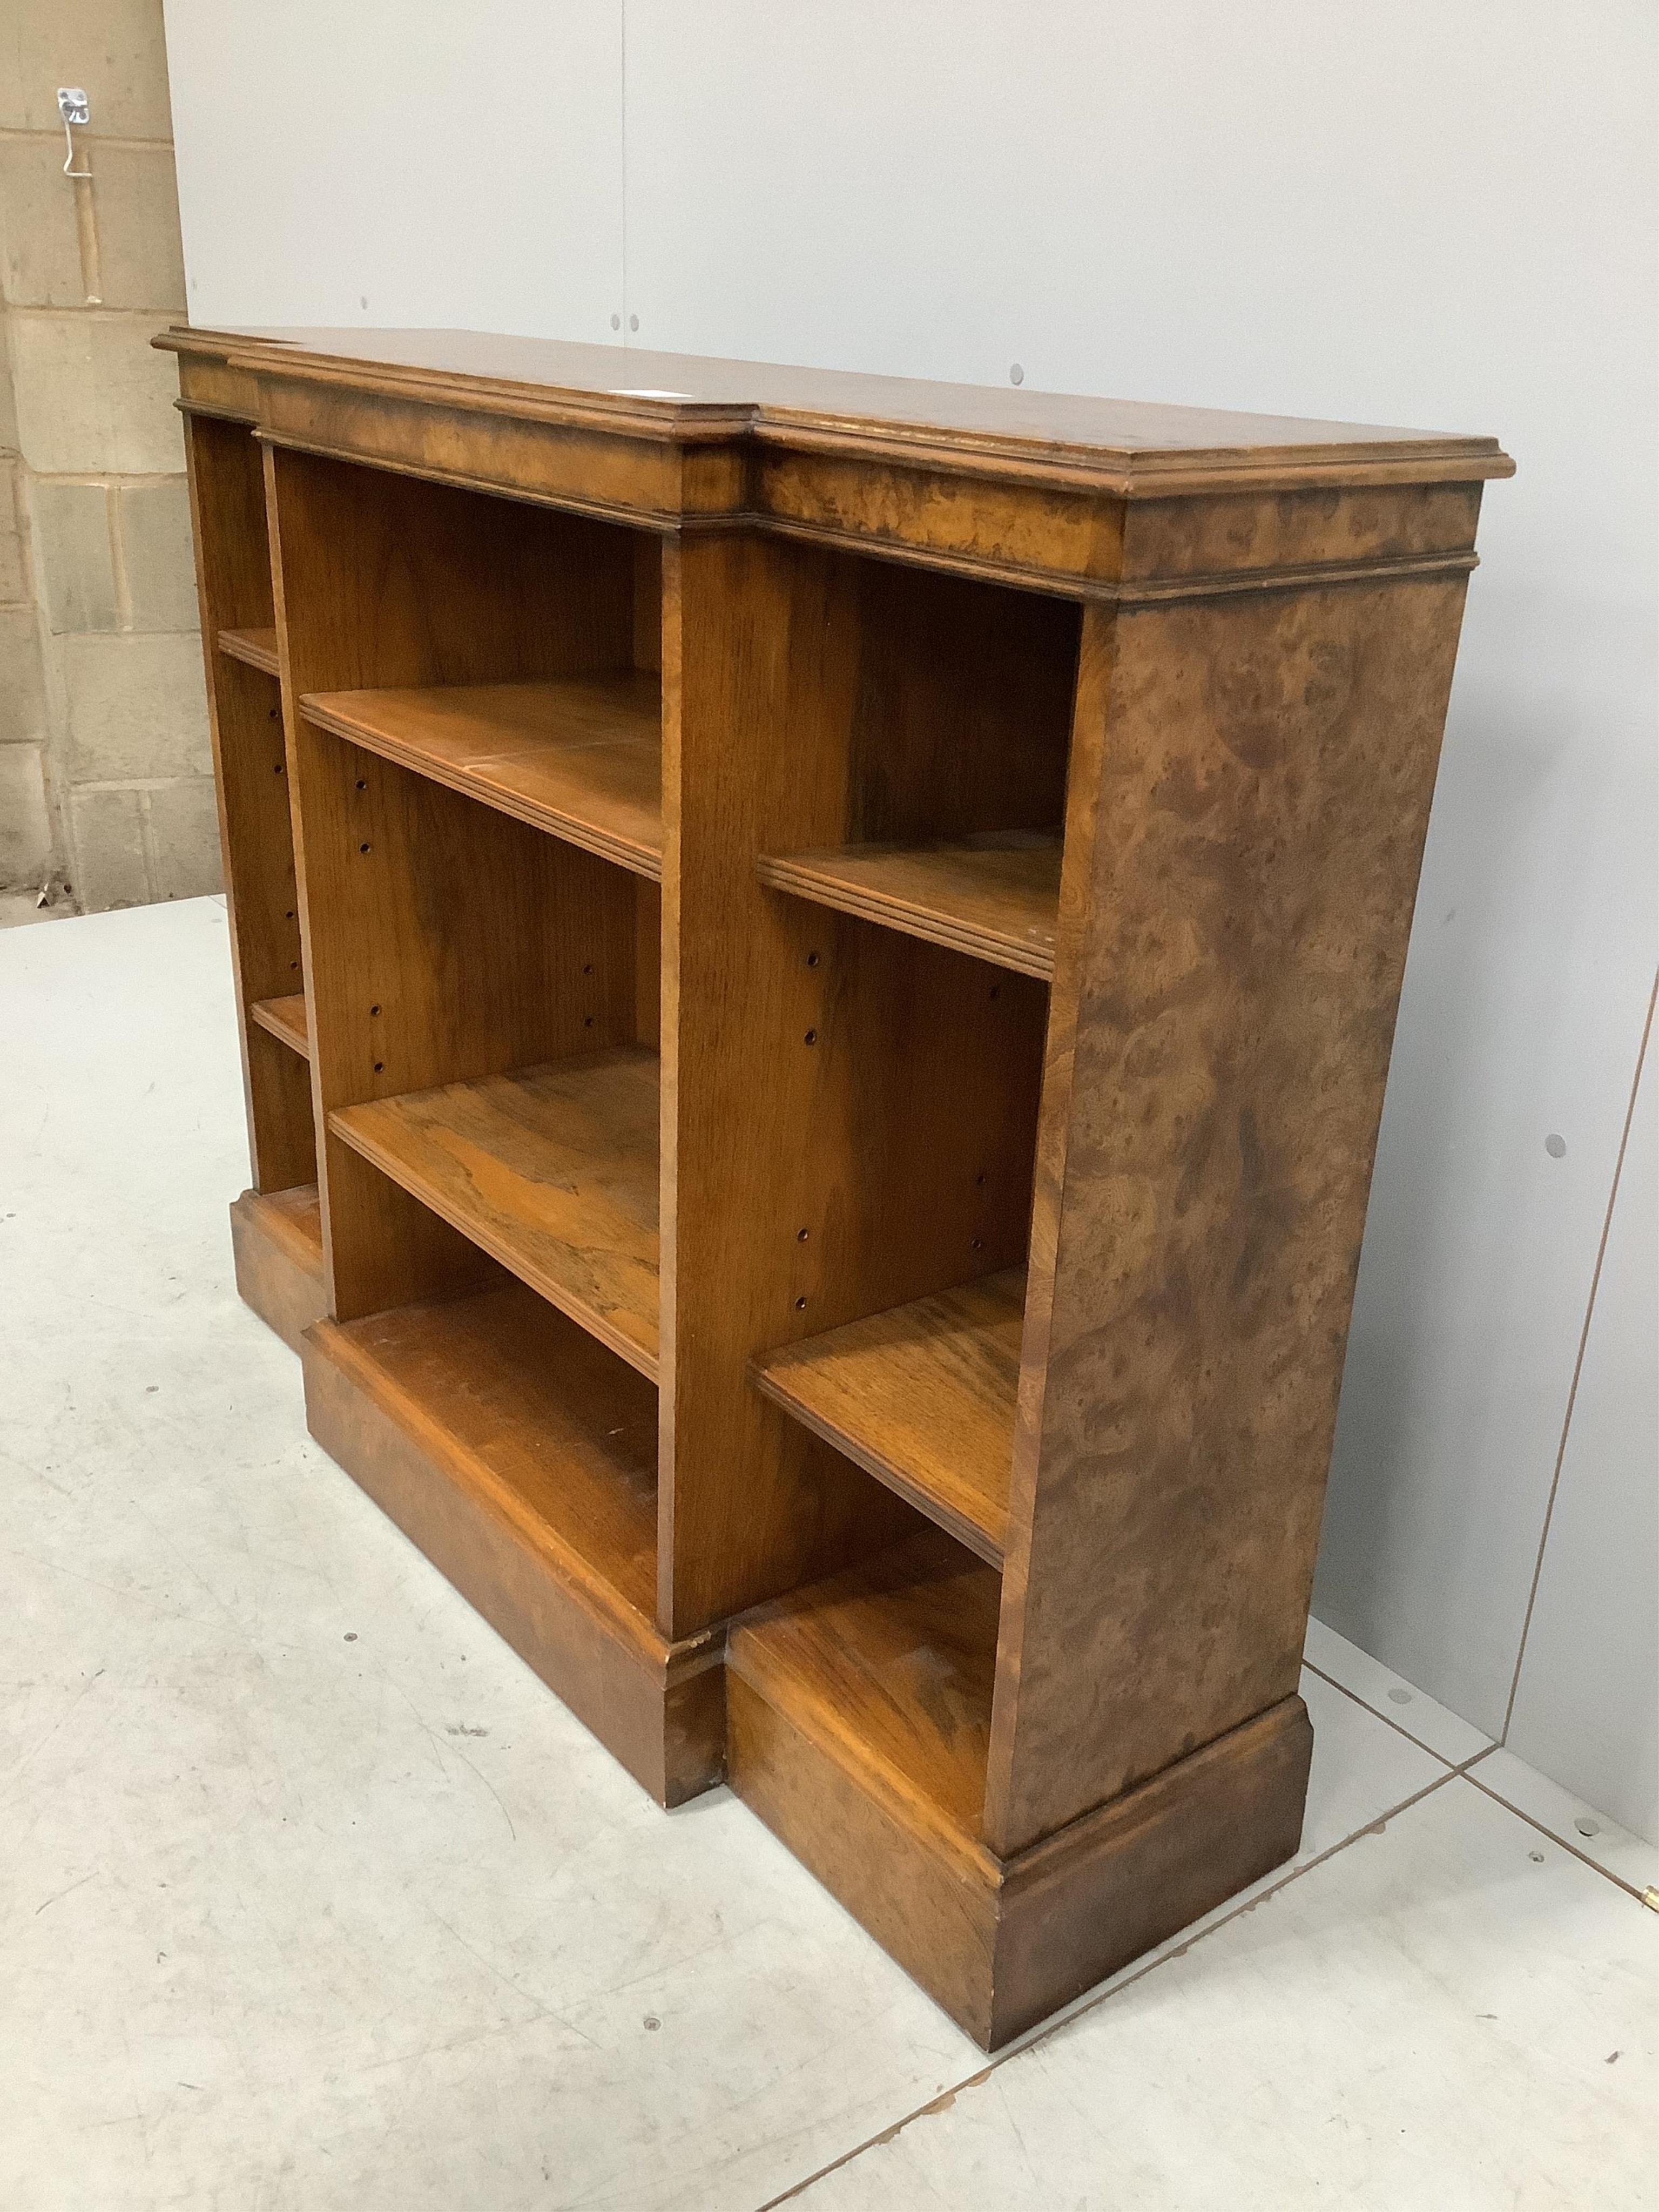
[[[518,1283],[330,1325],[425,1453],[551,1537],[599,1595],[657,1610],[657,1394]],[[653,1630],[655,1635],[655,1630]]]

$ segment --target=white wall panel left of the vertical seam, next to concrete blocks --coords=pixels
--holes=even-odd
[[[622,0],[166,0],[195,323],[613,338]]]

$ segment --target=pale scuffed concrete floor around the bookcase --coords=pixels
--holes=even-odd
[[[0,936],[4,2212],[1659,2203],[1659,1851],[1314,1628],[1305,1849],[987,2068],[234,1298],[217,900]]]

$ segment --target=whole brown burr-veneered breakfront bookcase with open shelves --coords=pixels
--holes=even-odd
[[[1489,438],[179,354],[316,1438],[998,2046],[1294,1851]]]

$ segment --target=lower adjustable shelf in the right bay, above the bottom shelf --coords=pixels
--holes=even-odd
[[[772,1352],[754,1380],[1000,1566],[1024,1301],[1024,1267],[1009,1267]]]

